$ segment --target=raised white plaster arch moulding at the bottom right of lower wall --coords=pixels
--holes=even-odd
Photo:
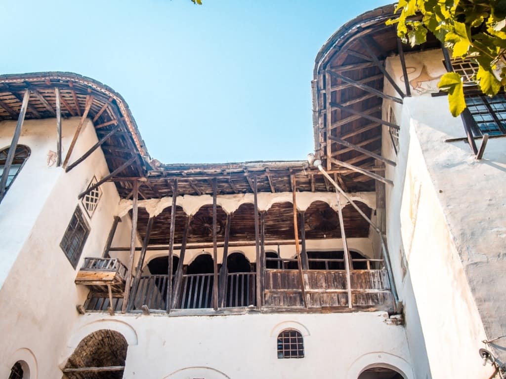
[[[346,379],[357,379],[369,368],[384,367],[399,372],[404,379],[414,379],[411,365],[403,358],[382,351],[364,354],[357,358],[348,368]]]

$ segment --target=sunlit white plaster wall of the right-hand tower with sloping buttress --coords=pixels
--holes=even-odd
[[[444,73],[438,50],[409,55],[407,65],[413,62],[423,62],[433,77]],[[387,69],[398,77],[397,57]],[[426,93],[437,91],[431,89],[437,82],[425,82],[425,91],[411,88],[413,98],[392,106],[401,130],[399,164],[387,169],[395,182],[387,187],[388,242],[411,354],[420,357],[416,376],[488,378],[493,370],[481,365],[478,349],[487,347],[481,341],[506,334],[506,140],[491,139],[481,162],[466,143],[445,143],[465,132],[447,98]],[[390,84],[385,88],[393,94]],[[383,137],[389,141],[383,154],[392,157],[386,130]]]

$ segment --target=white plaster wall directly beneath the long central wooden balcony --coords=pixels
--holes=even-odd
[[[384,312],[189,317],[94,313],[80,317],[75,324],[61,365],[81,338],[93,330],[112,328],[136,336],[128,348],[125,379],[194,377],[177,375],[189,367],[209,368],[198,372],[211,379],[356,379],[358,366],[363,369],[392,362],[396,367],[402,365],[405,378],[412,379],[404,328],[388,324],[386,319]],[[92,326],[87,327],[89,324]],[[276,337],[290,327],[304,336],[302,359],[277,358]]]

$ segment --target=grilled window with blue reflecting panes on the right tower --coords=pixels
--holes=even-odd
[[[476,125],[475,136],[506,134],[506,98],[498,94],[489,98],[484,94],[468,94],[466,105],[473,115]]]

